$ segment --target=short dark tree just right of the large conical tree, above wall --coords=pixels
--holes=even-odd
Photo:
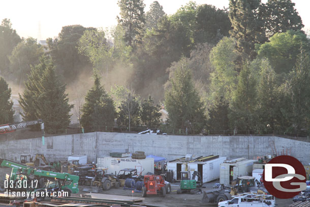
[[[223,96],[216,98],[214,106],[208,109],[209,120],[207,122],[210,130],[228,130],[229,129],[229,103]]]

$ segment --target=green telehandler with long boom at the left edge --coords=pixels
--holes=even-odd
[[[17,181],[26,180],[27,181],[27,189],[30,190],[30,186],[33,188],[34,186],[37,188],[42,188],[45,180],[57,180],[61,183],[61,189],[66,189],[70,193],[78,193],[78,181],[79,176],[72,175],[69,173],[60,173],[53,171],[46,171],[41,169],[36,169],[30,166],[26,166],[20,163],[16,163],[14,161],[0,159],[0,166],[10,167],[12,168],[11,175],[6,176],[6,180],[8,183],[17,185]],[[39,185],[34,185],[32,181],[37,181]],[[4,190],[4,185],[0,185],[0,190]],[[35,189],[31,189],[32,191]]]

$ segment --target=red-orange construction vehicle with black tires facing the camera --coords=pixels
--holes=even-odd
[[[166,196],[166,193],[171,192],[170,184],[166,184],[161,175],[144,175],[144,186],[142,187],[142,197],[146,195],[161,194],[162,197]]]

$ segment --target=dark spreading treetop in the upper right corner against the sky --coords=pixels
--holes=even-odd
[[[266,37],[269,39],[276,33],[285,33],[292,29],[300,31],[303,27],[298,12],[291,0],[268,0],[262,5],[262,16],[265,22]]]

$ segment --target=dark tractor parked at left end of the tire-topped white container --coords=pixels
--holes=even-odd
[[[87,170],[87,176],[83,177],[83,191],[98,193],[100,190],[110,190],[111,187],[119,188],[120,183],[114,174],[106,174],[107,168],[95,168]]]

